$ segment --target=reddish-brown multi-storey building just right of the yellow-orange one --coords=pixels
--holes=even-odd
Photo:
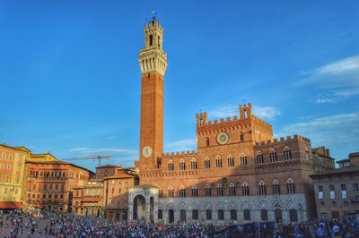
[[[91,171],[57,160],[51,154],[36,154],[25,162],[23,200],[28,208],[49,208],[71,212],[73,189],[83,187]]]

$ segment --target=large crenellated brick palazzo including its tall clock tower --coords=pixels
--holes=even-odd
[[[302,222],[316,217],[311,174],[334,168],[328,149],[300,135],[274,139],[269,123],[240,105],[238,115],[196,116],[197,151],[163,152],[163,29],[144,26],[139,185],[129,189],[128,219],[214,224]],[[171,83],[171,82],[170,82]]]

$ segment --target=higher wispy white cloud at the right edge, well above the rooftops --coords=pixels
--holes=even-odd
[[[298,85],[312,85],[324,90],[317,104],[337,103],[359,95],[359,55],[347,57],[307,73]]]

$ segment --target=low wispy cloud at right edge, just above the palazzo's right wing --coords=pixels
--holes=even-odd
[[[359,144],[359,112],[329,115],[307,122],[286,125],[276,136],[300,134],[315,146],[348,146]]]

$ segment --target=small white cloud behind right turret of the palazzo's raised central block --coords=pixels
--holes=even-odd
[[[276,116],[280,115],[280,111],[274,106],[254,106],[252,114],[261,119],[274,120]],[[208,112],[208,116],[211,118],[224,118],[233,115],[239,115],[239,106],[218,106]]]

